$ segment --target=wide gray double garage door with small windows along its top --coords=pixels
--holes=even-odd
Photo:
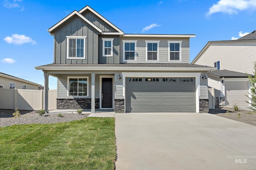
[[[126,112],[196,112],[195,78],[126,78]]]

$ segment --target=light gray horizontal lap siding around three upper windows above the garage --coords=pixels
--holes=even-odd
[[[137,40],[136,42],[136,62],[123,61],[123,40]],[[146,61],[146,41],[159,41],[159,61]],[[169,62],[168,42],[182,41],[181,61]],[[189,38],[164,38],[164,37],[120,37],[120,63],[190,63],[189,61]]]

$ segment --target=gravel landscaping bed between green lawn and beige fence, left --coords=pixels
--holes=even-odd
[[[61,113],[63,117],[58,117],[58,113],[45,113],[40,116],[37,111],[19,110],[20,118],[13,117],[15,110],[0,109],[0,127],[16,124],[34,124],[34,123],[60,123],[73,120],[79,120],[87,117],[89,114]]]

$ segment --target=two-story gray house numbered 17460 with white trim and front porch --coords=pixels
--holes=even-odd
[[[89,6],[48,29],[54,63],[37,66],[58,78],[58,109],[116,112],[207,112],[210,66],[189,64],[195,35],[125,34]],[[45,108],[48,111],[48,101]]]

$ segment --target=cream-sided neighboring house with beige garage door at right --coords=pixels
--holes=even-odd
[[[215,88],[215,104],[248,106],[250,84],[246,73],[253,74],[256,62],[256,31],[229,41],[209,41],[192,64],[214,66],[208,86]]]

